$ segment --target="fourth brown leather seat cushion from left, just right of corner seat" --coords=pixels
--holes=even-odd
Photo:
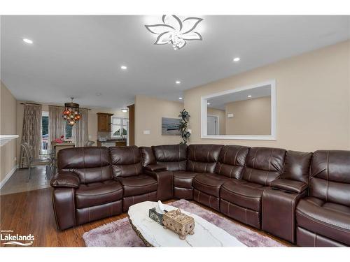
[[[230,181],[230,178],[223,175],[212,173],[202,173],[196,175],[193,180],[193,187],[198,191],[207,193],[211,196],[220,196],[220,188],[223,183]]]

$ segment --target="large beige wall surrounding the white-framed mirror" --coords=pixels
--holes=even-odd
[[[283,48],[283,47],[281,47]],[[330,45],[185,92],[190,143],[283,147],[289,150],[350,149],[350,41]],[[200,98],[276,80],[276,140],[200,138]]]

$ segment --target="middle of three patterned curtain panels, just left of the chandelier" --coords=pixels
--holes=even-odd
[[[48,150],[52,151],[52,141],[64,136],[63,106],[48,106]]]

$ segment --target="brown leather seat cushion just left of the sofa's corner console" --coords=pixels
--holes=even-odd
[[[118,181],[123,185],[123,196],[137,196],[141,194],[157,191],[158,182],[149,175],[133,175],[131,177],[118,177]]]

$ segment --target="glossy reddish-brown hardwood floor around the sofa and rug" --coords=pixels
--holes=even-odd
[[[51,193],[52,189],[48,188],[0,196],[0,229],[12,230],[13,234],[34,235],[34,247],[85,247],[83,233],[127,217],[127,214],[120,214],[66,231],[58,231],[52,209]],[[165,203],[169,202],[172,201],[165,201]],[[255,231],[253,228],[250,229]],[[266,234],[262,233],[262,235]],[[277,238],[274,240],[290,245]]]

